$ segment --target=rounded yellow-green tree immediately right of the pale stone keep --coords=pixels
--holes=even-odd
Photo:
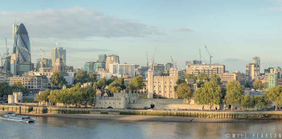
[[[190,100],[193,97],[194,91],[187,83],[182,83],[180,85],[177,85],[175,93],[182,99]]]

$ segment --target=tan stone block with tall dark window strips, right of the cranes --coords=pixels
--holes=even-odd
[[[252,63],[246,65],[246,80],[252,80],[255,76],[260,76],[260,65]]]

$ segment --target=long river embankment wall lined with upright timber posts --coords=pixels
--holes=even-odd
[[[19,106],[0,105],[2,111],[20,112]],[[84,109],[21,106],[21,113],[62,113],[62,114],[113,114],[113,115],[152,115],[180,116],[216,119],[282,120],[282,111],[221,112],[221,111],[168,111],[168,110],[129,110],[129,109]],[[2,113],[3,114],[3,113]]]

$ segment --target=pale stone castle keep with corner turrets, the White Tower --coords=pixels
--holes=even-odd
[[[153,99],[153,95],[164,98],[178,98],[174,91],[174,86],[178,79],[177,68],[169,69],[169,76],[153,76],[153,70],[149,68],[148,74],[148,98]]]

